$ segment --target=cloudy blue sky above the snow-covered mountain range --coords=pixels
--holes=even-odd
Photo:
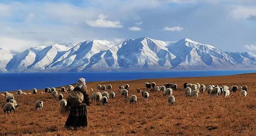
[[[189,38],[256,53],[256,0],[0,0],[0,46]]]

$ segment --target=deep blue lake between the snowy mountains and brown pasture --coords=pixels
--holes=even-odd
[[[256,70],[0,73],[0,92],[64,86],[76,83],[77,79],[80,77],[85,78],[86,82],[93,82],[155,78],[209,77],[254,72],[256,72]]]

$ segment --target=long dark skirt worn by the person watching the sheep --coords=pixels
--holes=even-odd
[[[71,107],[66,127],[88,127],[88,112],[86,105]]]

